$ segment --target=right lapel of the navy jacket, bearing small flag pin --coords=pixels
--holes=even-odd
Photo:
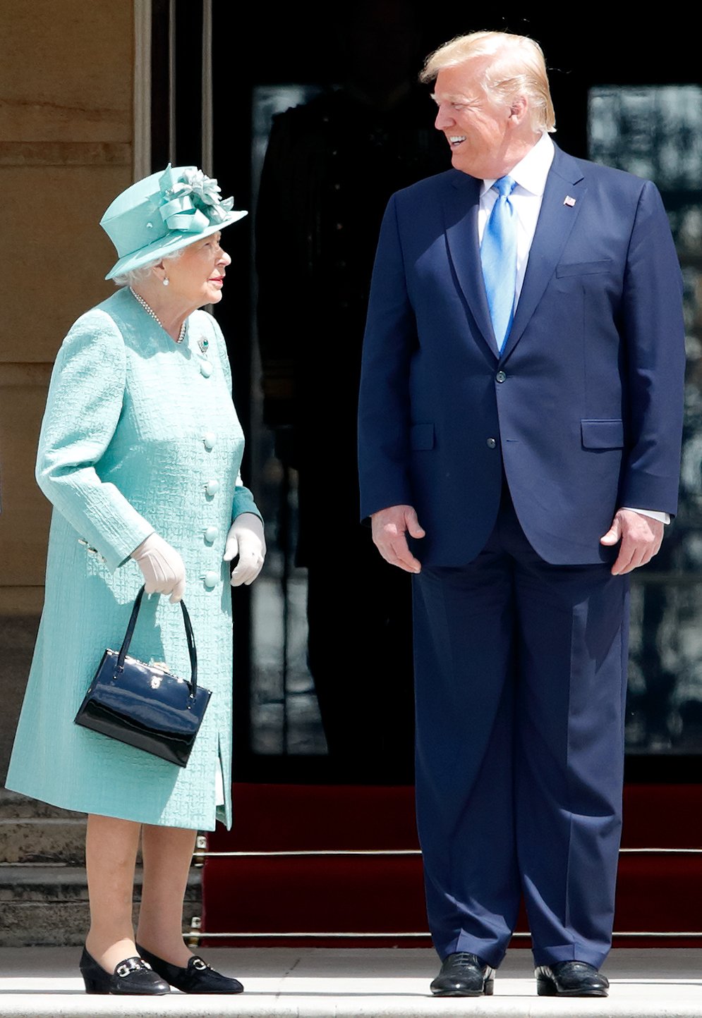
[[[580,215],[586,192],[587,185],[578,163],[556,147],[546,178],[522,293],[502,350],[502,359],[515,349],[536,310]],[[566,204],[566,199],[575,199],[575,204]]]

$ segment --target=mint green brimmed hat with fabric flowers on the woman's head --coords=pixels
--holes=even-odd
[[[195,166],[171,167],[138,180],[105,212],[100,225],[117,248],[105,279],[158,262],[247,215],[221,199],[213,177]]]

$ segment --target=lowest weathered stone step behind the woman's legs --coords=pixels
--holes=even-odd
[[[183,932],[201,914],[200,868],[188,875]],[[142,870],[134,878],[139,915]],[[0,947],[79,946],[90,923],[86,870],[76,866],[0,865]]]

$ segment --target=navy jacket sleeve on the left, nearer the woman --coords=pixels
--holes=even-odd
[[[417,323],[410,301],[396,214],[385,211],[364,335],[359,394],[361,516],[413,505],[410,479],[410,365]]]

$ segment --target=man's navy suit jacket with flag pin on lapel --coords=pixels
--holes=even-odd
[[[599,539],[618,507],[677,510],[682,275],[660,195],[556,148],[500,355],[481,183],[451,169],[387,206],[364,339],[362,515],[412,505],[418,558],[462,565],[492,530],[504,470],[543,559],[608,561]]]

